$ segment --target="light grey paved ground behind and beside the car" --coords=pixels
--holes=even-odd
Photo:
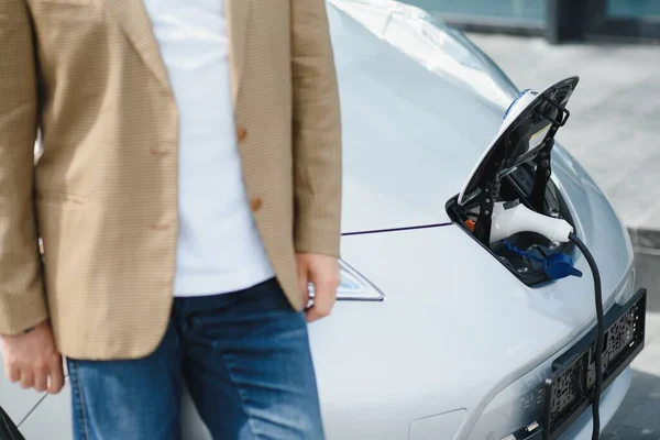
[[[660,439],[660,45],[575,44],[469,35],[519,88],[578,75],[557,139],[609,196],[631,231],[638,284],[649,288],[646,349],[603,440]]]

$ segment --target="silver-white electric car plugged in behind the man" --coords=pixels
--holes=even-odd
[[[344,132],[342,285],[332,316],[310,326],[328,439],[591,439],[586,258],[525,231],[491,243],[476,224],[496,175],[493,202],[565,219],[593,253],[607,320],[603,428],[644,346],[646,296],[627,231],[581,165],[556,145],[550,180],[535,172],[575,79],[528,114],[559,119],[520,152],[503,145],[529,127],[501,130],[518,89],[460,32],[389,0],[329,0],[328,13]],[[502,173],[488,174],[496,150]],[[549,279],[550,254],[584,276]],[[28,440],[72,438],[68,388],[45,396],[2,378],[0,406]],[[187,395],[183,430],[209,438]]]

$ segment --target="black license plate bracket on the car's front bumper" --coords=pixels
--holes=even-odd
[[[644,349],[647,292],[639,289],[605,316],[603,391]],[[552,363],[544,385],[543,440],[556,440],[591,405],[595,384],[596,329]]]

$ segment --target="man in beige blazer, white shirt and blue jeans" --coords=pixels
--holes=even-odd
[[[66,356],[78,439],[178,438],[184,381],[215,439],[322,439],[306,321],[334,302],[341,199],[323,0],[0,0],[0,96],[8,377],[57,393]]]

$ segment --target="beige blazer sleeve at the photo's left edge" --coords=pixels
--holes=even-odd
[[[24,0],[0,0],[0,334],[47,319],[34,211],[37,92]]]

